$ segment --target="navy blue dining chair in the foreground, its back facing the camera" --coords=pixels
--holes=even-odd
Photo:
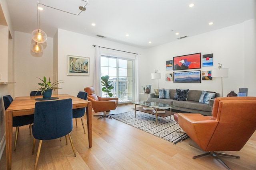
[[[70,135],[72,129],[72,99],[36,102],[34,125],[32,125],[32,134],[34,136],[32,154],[34,154],[36,139],[40,141],[36,155],[35,169],[38,164],[42,140],[57,139],[68,135],[74,155],[76,156]]]

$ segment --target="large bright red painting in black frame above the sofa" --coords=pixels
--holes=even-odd
[[[201,53],[173,57],[173,70],[201,68]]]

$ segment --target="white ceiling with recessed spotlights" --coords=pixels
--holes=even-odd
[[[31,33],[37,28],[37,0],[6,1],[15,31]],[[86,4],[83,0],[40,3],[73,14]],[[40,27],[48,37],[60,28],[94,37],[102,35],[106,40],[140,48],[178,41],[179,37],[228,27],[256,16],[256,0],[89,0],[86,11],[78,16],[42,7]]]

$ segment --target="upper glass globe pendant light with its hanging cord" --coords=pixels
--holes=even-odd
[[[40,2],[37,4],[37,15],[38,15],[38,5],[40,5]],[[37,16],[37,20],[38,20],[38,16]],[[35,29],[31,33],[32,39],[37,43],[44,43],[47,39],[47,35],[42,29],[40,29],[40,11],[39,11],[39,23],[37,28],[38,29]]]

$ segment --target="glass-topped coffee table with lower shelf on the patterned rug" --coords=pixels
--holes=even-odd
[[[173,115],[175,112],[172,112],[172,108],[176,107],[170,104],[162,104],[156,102],[148,102],[148,101],[140,101],[140,102],[133,102],[135,104],[135,118],[136,118],[136,111],[142,111],[151,115],[156,115],[156,125],[157,125],[157,117],[167,117]],[[136,107],[140,105],[142,107]],[[148,110],[145,110],[147,109]],[[170,109],[170,111],[166,110]]]

